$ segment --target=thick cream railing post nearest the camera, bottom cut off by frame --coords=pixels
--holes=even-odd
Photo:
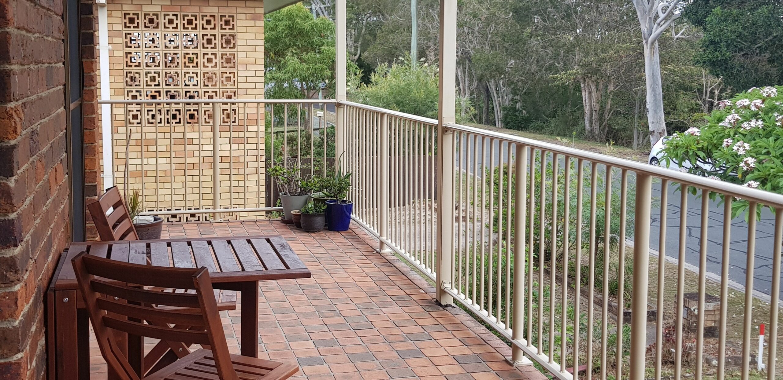
[[[650,260],[652,177],[637,173],[636,217],[633,222],[633,298],[631,299],[630,380],[644,380],[647,360],[647,302]]]

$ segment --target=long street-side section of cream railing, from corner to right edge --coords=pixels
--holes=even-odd
[[[513,361],[563,379],[781,375],[783,195],[459,124],[441,151],[437,120],[341,105],[355,220],[507,338]]]

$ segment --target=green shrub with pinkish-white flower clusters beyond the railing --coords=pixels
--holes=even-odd
[[[751,88],[723,100],[703,127],[673,134],[663,162],[692,174],[783,194],[783,87]],[[739,199],[734,215],[748,207]]]

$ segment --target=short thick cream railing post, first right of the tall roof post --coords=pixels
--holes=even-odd
[[[527,235],[527,198],[528,198],[528,147],[517,145],[516,167],[514,167],[514,307],[511,317],[512,334],[515,340],[524,339],[525,336],[525,237]],[[511,347],[511,364],[529,364],[525,360],[522,350],[514,345]]]

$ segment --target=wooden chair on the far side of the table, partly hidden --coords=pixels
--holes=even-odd
[[[117,186],[107,188],[106,192],[98,200],[90,203],[87,209],[96,224],[98,235],[103,242],[116,240],[138,240],[139,235],[133,227],[133,223],[128,213],[128,206],[125,206],[120,190]],[[176,289],[152,288],[150,290],[162,292],[178,292]],[[226,298],[233,300],[218,302],[218,310],[236,310],[236,293],[226,293]],[[220,292],[215,291],[215,298],[219,299]],[[147,321],[154,324],[155,321]],[[175,328],[185,330],[204,330],[204,326],[186,326],[176,325]],[[157,345],[147,353],[143,360],[143,374],[151,374],[158,371],[161,367],[175,362],[177,359],[189,355],[190,344],[176,342],[171,340],[161,340]],[[206,346],[206,345],[205,345]],[[208,347],[208,346],[207,346]]]

